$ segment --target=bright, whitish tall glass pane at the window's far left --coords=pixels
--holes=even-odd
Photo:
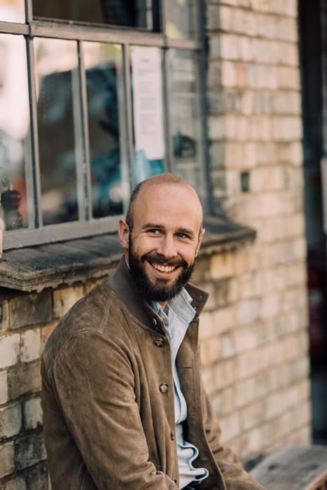
[[[0,221],[5,230],[17,230],[28,225],[29,97],[24,38],[0,34],[0,59]]]

